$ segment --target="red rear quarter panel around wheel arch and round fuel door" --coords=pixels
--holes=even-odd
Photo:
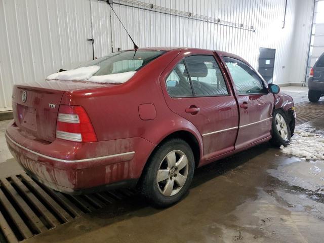
[[[173,113],[167,106],[161,90],[159,77],[167,65],[180,53],[179,49],[167,52],[144,66],[125,84],[83,91],[66,92],[61,104],[81,105],[87,111],[98,141],[125,138],[143,138],[153,146],[139,148],[129,170],[139,177],[154,147],[172,132],[179,130],[192,133],[202,150],[203,143],[197,129],[183,117]],[[143,120],[139,105],[152,104],[154,119]],[[143,117],[142,117],[143,118]],[[127,140],[125,140],[127,141]],[[116,143],[117,144],[117,143]],[[131,149],[130,144],[125,147]],[[145,154],[143,154],[145,151]],[[140,154],[140,156],[138,156]]]

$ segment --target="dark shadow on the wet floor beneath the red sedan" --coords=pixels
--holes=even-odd
[[[262,155],[263,153],[271,150],[271,154],[273,151],[277,151],[277,149],[271,147],[268,143],[260,144],[256,147],[253,147],[249,150],[239,152],[235,155],[230,157],[218,160],[214,163],[211,163],[207,166],[202,168],[198,168],[195,171],[195,175],[192,181],[192,185],[190,190],[199,188],[199,186],[204,185],[205,183],[209,183],[211,180],[226,175],[228,173],[232,173],[235,170],[235,173],[241,173],[240,167],[244,166],[246,163],[251,161],[252,159]],[[252,164],[255,163],[252,161]],[[234,185],[231,185],[234,186]],[[206,188],[201,188],[206,189]],[[209,188],[207,187],[207,190]],[[61,225],[58,230],[63,230],[69,232],[69,234],[62,235],[61,240],[63,239],[71,239],[73,237],[77,237],[80,234],[86,234],[87,232],[92,232],[98,230],[102,227],[106,227],[108,225],[118,225],[118,222],[129,220],[132,218],[142,218],[142,217],[150,217],[154,214],[158,214],[162,211],[169,211],[170,214],[175,210],[175,208],[182,208],[184,205],[188,204],[188,198],[191,196],[189,192],[185,195],[184,200],[186,202],[181,202],[175,206],[172,206],[168,209],[156,209],[151,207],[145,199],[143,199],[139,193],[135,193],[133,196],[128,197],[124,200],[119,200],[116,203],[113,203],[105,208],[96,210],[92,213],[84,214],[74,221]],[[208,193],[218,193],[217,191],[213,190]],[[191,201],[191,199],[190,199]],[[190,202],[189,201],[189,202]],[[181,204],[183,204],[181,206]],[[175,208],[174,208],[175,207]],[[167,213],[168,215],[168,213]],[[113,226],[113,227],[114,227]],[[57,232],[56,230],[50,230],[46,232],[45,238],[47,235],[51,237],[53,234]],[[61,232],[61,231],[59,231]],[[41,236],[41,235],[39,235]],[[44,236],[42,236],[44,237]],[[43,239],[43,238],[42,238]],[[56,238],[60,240],[60,238]]]

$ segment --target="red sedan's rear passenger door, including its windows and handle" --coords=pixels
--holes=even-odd
[[[161,75],[169,108],[200,132],[204,159],[234,150],[238,128],[235,98],[213,52],[185,52]]]

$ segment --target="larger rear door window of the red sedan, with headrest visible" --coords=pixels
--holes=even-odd
[[[224,77],[213,56],[197,55],[184,60],[196,96],[228,94]]]

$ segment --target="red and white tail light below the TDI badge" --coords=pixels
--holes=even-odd
[[[82,106],[60,105],[56,138],[75,142],[96,142],[97,136]]]

